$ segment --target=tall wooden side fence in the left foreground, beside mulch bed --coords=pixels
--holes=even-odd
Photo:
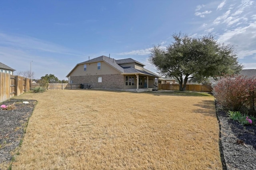
[[[0,102],[29,91],[30,79],[9,73],[0,73]]]

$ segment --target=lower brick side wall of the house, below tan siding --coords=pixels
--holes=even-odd
[[[102,83],[98,83],[98,77],[102,77]],[[120,74],[71,76],[70,80],[74,84],[89,84],[97,89],[124,88],[124,75]]]

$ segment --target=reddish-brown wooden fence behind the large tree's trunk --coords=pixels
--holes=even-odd
[[[158,84],[158,90],[174,90],[178,91],[180,85],[178,84]],[[211,85],[186,85],[186,90],[197,92],[212,92]]]

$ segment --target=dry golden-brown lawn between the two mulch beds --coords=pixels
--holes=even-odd
[[[16,169],[222,169],[214,98],[200,93],[49,90]]]

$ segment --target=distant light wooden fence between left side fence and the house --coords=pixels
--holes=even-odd
[[[40,83],[32,83],[31,89],[40,87]],[[80,84],[69,84],[69,83],[49,83],[48,90],[63,90],[63,89],[80,89]]]

